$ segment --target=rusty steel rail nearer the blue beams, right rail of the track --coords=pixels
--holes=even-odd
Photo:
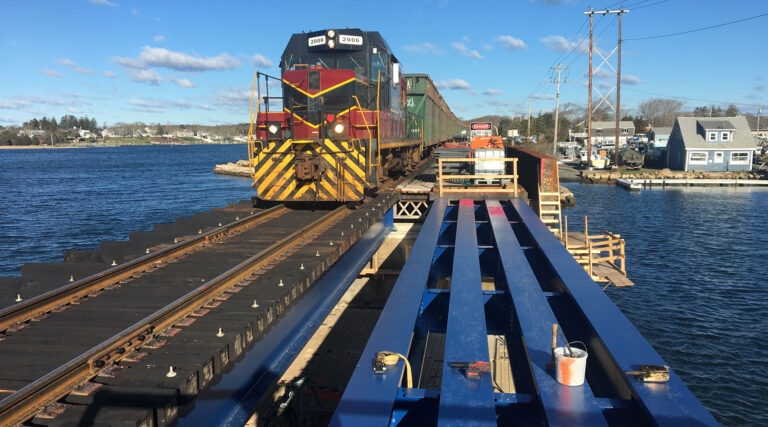
[[[0,401],[0,426],[16,426],[120,361],[148,339],[198,310],[217,295],[290,249],[315,239],[323,229],[341,220],[349,210],[341,206],[296,230],[237,266],[206,282],[133,326],[93,347],[40,379]]]

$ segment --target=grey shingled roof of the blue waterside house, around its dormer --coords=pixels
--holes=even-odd
[[[754,149],[757,147],[746,117],[678,117],[675,120],[675,125],[680,127],[680,135],[683,137],[683,143],[687,149]],[[733,138],[731,141],[725,142],[708,142],[704,140],[703,135],[696,131],[699,125],[704,129],[733,129]]]

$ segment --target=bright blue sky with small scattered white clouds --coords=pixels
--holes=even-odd
[[[65,114],[99,125],[245,123],[254,72],[279,76],[292,33],[345,27],[379,31],[405,72],[429,74],[462,118],[527,114],[528,99],[534,114],[552,111],[558,63],[568,67],[561,105],[585,106],[584,12],[622,5],[622,114],[655,97],[688,109],[768,104],[768,16],[648,38],[768,14],[765,0],[0,0],[0,125]],[[616,47],[617,23],[594,17],[596,52]],[[609,59],[615,67],[616,53]],[[615,83],[603,65],[596,90]]]

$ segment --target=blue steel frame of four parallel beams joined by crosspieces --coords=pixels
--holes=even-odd
[[[581,386],[547,368],[553,324],[588,351]],[[445,336],[437,383],[421,381],[430,334]],[[496,363],[489,335],[504,337],[514,392],[466,368]],[[382,351],[407,357],[413,388],[402,361],[375,365]],[[438,199],[332,425],[717,425],[674,370],[664,383],[625,373],[641,364],[665,362],[524,201]]]

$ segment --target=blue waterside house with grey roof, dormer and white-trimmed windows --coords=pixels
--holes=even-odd
[[[667,142],[667,167],[748,171],[756,147],[745,117],[678,117]]]

